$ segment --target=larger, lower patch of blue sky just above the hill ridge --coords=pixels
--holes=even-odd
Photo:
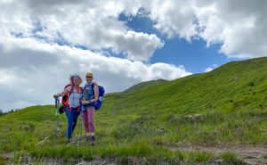
[[[174,65],[183,65],[192,73],[204,72],[206,68],[214,65],[222,65],[229,62],[225,55],[219,54],[219,46],[206,47],[203,40],[192,40],[191,43],[185,39],[165,38],[165,46],[156,51],[151,62],[166,62]]]

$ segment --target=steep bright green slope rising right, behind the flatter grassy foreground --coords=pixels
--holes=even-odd
[[[267,106],[267,58],[230,62],[208,73],[164,82],[131,94],[109,95],[117,111],[194,113]]]

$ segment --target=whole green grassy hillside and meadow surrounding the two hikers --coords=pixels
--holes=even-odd
[[[94,160],[95,156],[119,158],[125,164],[143,157],[151,164],[219,158],[241,163],[234,153],[175,148],[267,144],[266,63],[267,58],[230,62],[207,73],[141,83],[123,93],[106,95],[95,114],[97,144],[93,147],[85,142],[64,144],[65,114],[60,115],[57,142],[53,105],[14,111],[0,117],[0,153],[13,152],[14,163],[23,154],[62,158],[70,164],[68,158]]]

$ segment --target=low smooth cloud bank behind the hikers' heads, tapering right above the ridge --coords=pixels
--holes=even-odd
[[[12,45],[12,47],[10,46]],[[166,63],[146,65],[108,57],[67,45],[52,45],[34,38],[0,37],[0,109],[53,103],[53,94],[69,81],[69,74],[85,76],[107,92],[122,91],[141,81],[190,75],[182,66]]]

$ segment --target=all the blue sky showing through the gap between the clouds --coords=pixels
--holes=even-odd
[[[221,66],[227,62],[244,60],[245,58],[228,58],[225,54],[219,52],[222,44],[214,44],[206,46],[206,41],[201,38],[193,38],[191,41],[179,37],[166,37],[157,29],[153,28],[155,22],[150,18],[136,15],[126,16],[121,13],[118,18],[125,21],[128,28],[134,31],[144,32],[148,34],[156,34],[160,39],[164,40],[164,47],[157,49],[150,59],[150,63],[166,62],[174,65],[183,65],[187,71],[192,73],[201,73],[209,67]]]

